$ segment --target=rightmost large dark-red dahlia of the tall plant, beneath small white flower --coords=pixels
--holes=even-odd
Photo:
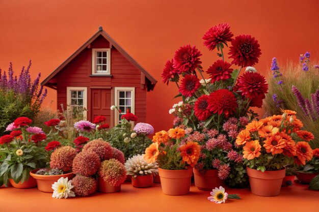
[[[245,72],[238,78],[235,90],[240,91],[242,96],[251,100],[254,98],[262,100],[265,98],[265,94],[268,93],[268,84],[264,76],[259,73]]]

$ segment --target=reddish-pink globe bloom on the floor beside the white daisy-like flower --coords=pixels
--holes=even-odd
[[[82,176],[77,174],[72,179],[72,189],[76,196],[89,196],[96,191],[97,183],[93,177]]]

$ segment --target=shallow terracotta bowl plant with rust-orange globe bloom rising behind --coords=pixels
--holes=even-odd
[[[34,169],[30,175],[36,179],[38,189],[42,192],[52,193],[52,184],[61,177],[72,179],[72,163],[76,150],[71,146],[56,148],[50,156],[50,168]]]

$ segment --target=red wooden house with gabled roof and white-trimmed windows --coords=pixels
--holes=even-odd
[[[84,117],[108,118],[111,126],[120,115],[111,110],[117,105],[129,109],[146,122],[146,92],[153,90],[156,79],[143,69],[102,27],[76,50],[41,84],[57,90],[58,108],[83,107]]]

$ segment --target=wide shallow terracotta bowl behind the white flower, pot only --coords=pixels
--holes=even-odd
[[[74,177],[73,172],[59,175],[41,175],[36,174],[39,169],[34,169],[30,171],[30,175],[37,180],[39,191],[46,193],[53,193],[52,184],[54,184],[61,177],[68,178],[69,180]]]

